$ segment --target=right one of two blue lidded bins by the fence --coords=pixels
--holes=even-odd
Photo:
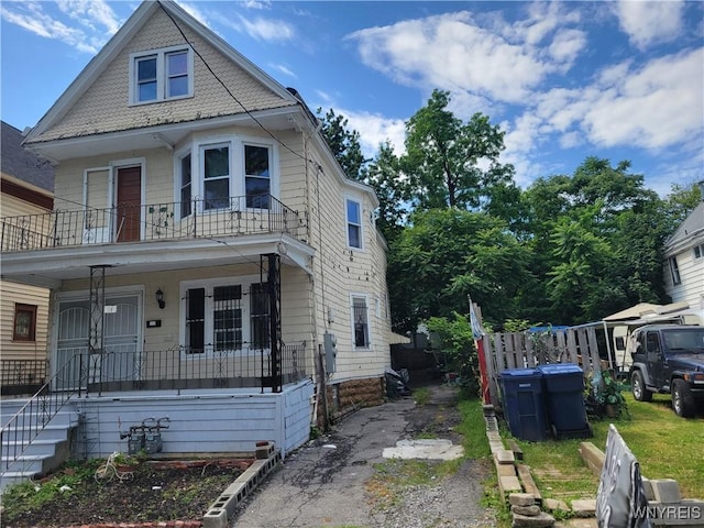
[[[539,365],[548,422],[556,438],[588,438],[584,406],[584,372],[574,363]]]

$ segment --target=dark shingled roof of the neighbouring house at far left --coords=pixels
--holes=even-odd
[[[22,146],[22,132],[2,121],[0,166],[3,175],[13,176],[41,189],[54,191],[54,167]]]

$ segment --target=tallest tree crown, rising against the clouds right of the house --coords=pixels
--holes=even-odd
[[[450,92],[435,90],[406,123],[402,166],[421,210],[480,209],[491,201],[493,187],[512,183],[513,166],[498,162],[504,132],[479,112],[463,123],[449,103]]]

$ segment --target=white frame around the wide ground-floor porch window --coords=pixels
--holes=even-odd
[[[183,349],[183,355],[187,359],[201,359],[213,358],[220,354],[258,354],[261,351],[268,353],[271,351],[271,342],[264,348],[254,348],[254,320],[252,312],[252,292],[253,287],[257,284],[266,285],[267,283],[261,283],[260,276],[246,275],[235,277],[218,277],[197,280],[183,280],[180,283],[180,314],[179,314],[179,343]],[[217,302],[215,299],[216,288],[221,287],[239,287],[240,298],[237,309],[240,310],[239,319],[241,327],[239,331],[241,336],[235,337],[235,346],[231,349],[218,350],[218,343],[216,339],[217,331],[224,333],[226,329],[216,328],[216,308]],[[202,321],[202,353],[189,352],[190,343],[187,342],[187,318],[188,318],[188,292],[191,289],[204,289],[204,321]],[[220,310],[223,311],[223,310]],[[261,318],[261,314],[257,314]],[[235,333],[238,331],[237,327]],[[190,340],[189,340],[190,341]],[[237,344],[239,343],[239,344]]]

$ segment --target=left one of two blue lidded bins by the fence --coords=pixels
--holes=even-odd
[[[501,378],[504,416],[510,432],[521,440],[546,440],[542,373],[537,369],[508,369]]]

